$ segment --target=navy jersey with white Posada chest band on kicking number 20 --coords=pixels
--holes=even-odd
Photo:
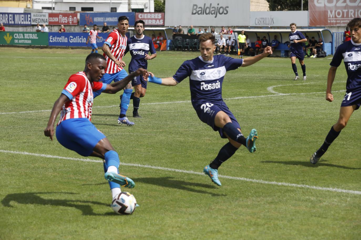
[[[189,77],[192,101],[222,101],[222,82],[227,71],[240,67],[243,59],[224,55],[213,56],[212,61],[204,61],[201,56],[185,61],[173,78],[181,82]]]

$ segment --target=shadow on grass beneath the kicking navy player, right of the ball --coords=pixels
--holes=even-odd
[[[196,190],[196,189],[191,188],[191,187],[204,187],[204,188],[208,188],[208,189],[217,189],[217,187],[214,185],[173,180],[172,178],[174,178],[174,177],[143,177],[143,178],[136,178],[136,179],[133,178],[133,180],[136,183],[143,182],[145,184],[152,184],[152,185],[161,186],[161,187],[185,190],[185,191],[190,191],[193,193],[210,194],[212,196],[227,196],[226,194],[217,194],[214,192]]]

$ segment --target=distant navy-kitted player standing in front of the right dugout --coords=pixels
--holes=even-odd
[[[290,35],[288,35],[288,37],[290,38],[290,45],[288,45],[288,47],[291,47],[290,50],[291,50],[292,69],[293,72],[296,74],[296,77],[293,80],[300,79],[297,73],[296,58],[298,58],[301,64],[301,68],[303,72],[303,80],[306,80],[306,65],[303,62],[305,56],[303,53],[302,43],[306,42],[307,39],[300,31],[296,30],[296,23],[291,23],[290,28],[291,28],[291,33]]]

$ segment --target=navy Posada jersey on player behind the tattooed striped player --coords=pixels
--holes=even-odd
[[[156,53],[150,37],[143,36],[142,39],[137,39],[135,36],[132,36],[127,40],[125,53],[130,52],[132,56],[129,63],[129,72],[134,72],[138,68],[147,69],[148,62],[145,60],[145,54],[148,54],[149,51],[151,54]]]

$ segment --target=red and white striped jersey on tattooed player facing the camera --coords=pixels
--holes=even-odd
[[[104,43],[109,45],[110,53],[112,53],[117,60],[122,60],[125,49],[127,47],[127,39],[127,36],[123,37],[116,29],[109,34]],[[106,59],[105,73],[116,73],[123,69],[110,60],[110,58],[105,53],[103,56]]]

